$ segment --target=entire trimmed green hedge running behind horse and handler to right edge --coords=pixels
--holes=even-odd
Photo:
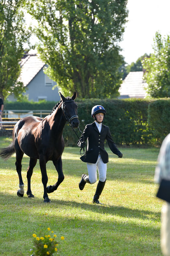
[[[91,109],[103,105],[107,111],[104,124],[110,127],[117,145],[161,144],[170,133],[170,99],[85,99],[76,100],[80,130],[83,132],[88,123],[93,122]],[[52,110],[57,102],[5,102],[5,109]],[[76,130],[81,135],[81,133]],[[66,123],[63,131],[65,144],[75,146],[77,137]]]

